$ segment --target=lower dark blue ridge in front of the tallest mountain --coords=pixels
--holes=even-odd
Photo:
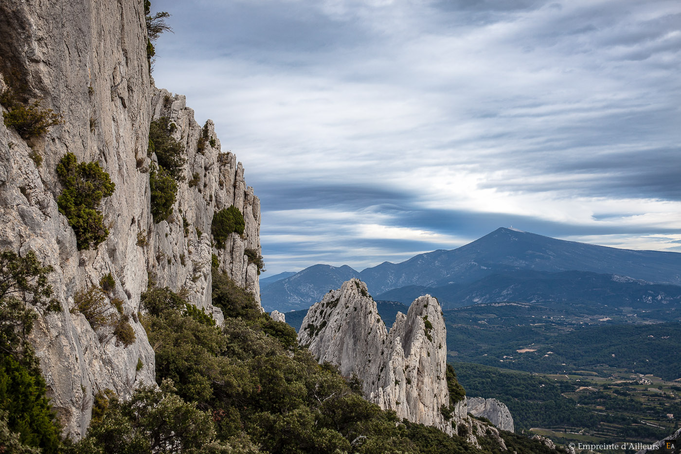
[[[430,294],[445,309],[497,301],[582,301],[612,307],[659,309],[681,303],[681,286],[650,282],[590,271],[511,271],[493,274],[471,284],[439,287],[406,286],[379,294],[377,299],[407,303],[413,297]]]

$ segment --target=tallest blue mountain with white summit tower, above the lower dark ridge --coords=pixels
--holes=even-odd
[[[681,284],[678,252],[617,249],[508,228],[498,228],[458,249],[419,254],[399,264],[384,262],[360,274],[370,292],[381,294],[409,285],[434,287],[474,282],[513,269],[591,271],[656,284]]]

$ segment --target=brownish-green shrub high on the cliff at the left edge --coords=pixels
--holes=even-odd
[[[10,89],[0,94],[0,104],[8,110],[3,113],[5,126],[13,127],[25,140],[42,136],[48,128],[63,123],[54,110],[41,108],[39,101],[30,104],[20,102]]]

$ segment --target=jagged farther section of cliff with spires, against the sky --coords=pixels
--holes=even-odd
[[[203,126],[194,119],[194,111],[187,107],[185,96],[172,95],[167,90],[155,90],[152,99],[153,119],[168,117],[176,125],[174,138],[185,147],[187,165],[185,181],[178,184],[174,214],[169,220],[153,224],[148,232],[151,275],[159,286],[173,290],[189,290],[189,299],[199,307],[214,311],[210,305],[211,254],[219,258],[220,269],[236,284],[250,290],[260,301],[257,266],[249,262],[246,249],[258,255],[260,248],[260,200],[253,188],[244,181],[244,169],[232,153],[222,153],[215,135],[215,125],[206,122],[208,140],[199,151],[197,144]],[[210,139],[215,146],[210,145]],[[155,159],[152,156],[151,159]],[[145,162],[144,166],[148,166]],[[244,215],[242,235],[232,233],[225,247],[212,247],[210,224],[213,215],[230,205]],[[187,232],[185,232],[185,225]]]

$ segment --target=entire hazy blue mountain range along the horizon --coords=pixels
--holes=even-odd
[[[538,274],[539,271],[545,273]],[[565,271],[590,274],[561,274]],[[281,312],[307,309],[328,290],[339,288],[350,277],[366,282],[377,299],[403,303],[411,303],[414,295],[420,295],[424,290],[429,292],[445,286],[446,289],[440,289],[441,296],[434,290],[432,294],[442,298],[447,307],[475,303],[476,298],[478,301],[538,301],[575,295],[602,301],[603,298],[616,298],[612,292],[622,295],[631,288],[643,290],[639,287],[648,284],[681,285],[681,254],[616,249],[498,228],[458,249],[439,249],[397,264],[383,262],[361,272],[347,266],[315,265],[264,288],[261,293],[263,305],[267,310]],[[489,279],[484,280],[486,277]],[[631,282],[635,279],[644,282]],[[529,281],[541,284],[541,288],[533,292],[533,282]],[[607,285],[599,290],[599,282],[607,282]],[[387,293],[395,289],[401,290]],[[518,296],[503,294],[506,290],[517,292]],[[664,291],[665,294],[671,291],[646,288],[644,293],[648,290],[653,293]],[[671,299],[678,294],[675,291],[671,291]],[[639,297],[645,297],[644,293],[639,293]]]

